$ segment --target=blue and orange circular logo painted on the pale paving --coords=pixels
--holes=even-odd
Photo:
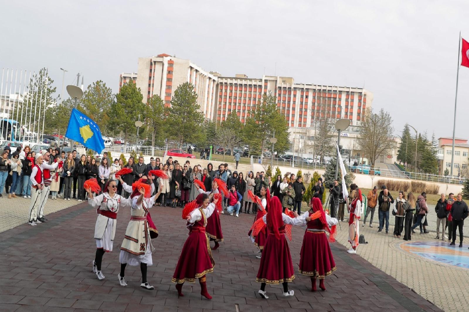
[[[401,250],[425,260],[463,269],[469,269],[469,249],[467,247],[459,248],[459,244],[450,246],[448,242],[408,242],[399,245]]]

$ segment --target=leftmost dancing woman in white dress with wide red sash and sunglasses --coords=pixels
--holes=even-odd
[[[104,188],[104,192],[96,197],[91,193],[91,187],[85,189],[88,193],[88,203],[91,207],[97,208],[98,219],[94,228],[94,238],[96,239],[96,256],[92,261],[93,272],[99,280],[104,279],[101,271],[101,263],[105,252],[113,251],[113,241],[116,232],[117,211],[120,207],[130,206],[131,201],[116,193],[117,184],[110,182]],[[125,283],[125,281],[124,281]],[[122,283],[121,283],[122,284]]]

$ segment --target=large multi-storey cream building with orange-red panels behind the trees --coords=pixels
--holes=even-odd
[[[371,107],[373,93],[356,87],[339,87],[319,84],[295,83],[292,77],[266,76],[249,78],[245,74],[234,77],[207,72],[188,59],[168,54],[138,59],[137,73],[122,73],[119,88],[130,80],[141,89],[144,103],[154,94],[171,105],[174,91],[184,82],[194,85],[200,110],[207,120],[222,122],[235,112],[242,123],[250,112],[262,102],[264,94],[272,94],[276,104],[288,121],[291,152],[311,154],[311,138],[314,138],[315,118],[350,119],[350,130],[345,141],[354,150],[356,126],[360,126],[364,110]],[[352,127],[350,127],[352,128]],[[347,133],[344,133],[347,135]],[[346,149],[344,147],[344,149]]]

